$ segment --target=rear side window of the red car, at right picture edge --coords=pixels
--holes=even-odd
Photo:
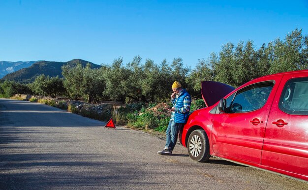
[[[308,77],[287,81],[278,107],[287,114],[308,115]]]

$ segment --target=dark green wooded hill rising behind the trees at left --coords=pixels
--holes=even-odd
[[[46,76],[55,77],[59,76],[62,78],[62,69],[61,67],[65,64],[69,65],[76,65],[76,63],[79,62],[83,66],[86,66],[87,63],[91,64],[92,68],[99,68],[100,65],[94,64],[88,61],[75,59],[69,62],[47,62],[47,61],[39,61],[36,63],[33,63],[28,68],[20,69],[16,72],[12,72],[10,74],[5,75],[1,80],[13,80],[15,82],[22,82],[22,83],[30,83],[33,82],[34,79],[41,74],[45,74]]]

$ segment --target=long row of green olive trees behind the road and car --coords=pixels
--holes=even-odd
[[[94,103],[100,100],[164,102],[169,99],[174,81],[180,81],[193,97],[200,98],[201,81],[214,80],[238,87],[257,77],[301,69],[308,69],[308,35],[296,29],[284,39],[277,38],[258,49],[251,40],[237,45],[227,43],[218,53],[199,60],[193,69],[184,66],[182,58],[175,58],[171,63],[166,60],[154,63],[151,59],[143,63],[136,56],[124,64],[120,57],[96,69],[90,64],[83,67],[77,63],[62,66],[63,78],[40,75],[29,84],[4,81],[0,84],[0,96],[66,95]]]

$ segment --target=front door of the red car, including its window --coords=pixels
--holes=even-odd
[[[268,80],[267,80],[268,79]],[[228,113],[213,120],[213,151],[217,156],[260,163],[265,127],[281,75],[263,78],[227,97]]]

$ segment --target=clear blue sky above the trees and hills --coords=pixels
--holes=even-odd
[[[227,42],[262,43],[302,29],[308,0],[0,0],[0,61],[143,63],[192,68]]]

